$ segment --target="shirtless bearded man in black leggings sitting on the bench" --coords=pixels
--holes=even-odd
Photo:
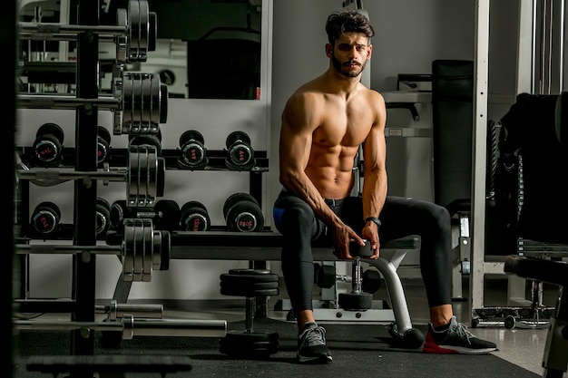
[[[298,322],[299,363],[328,363],[326,330],[316,323],[311,242],[327,237],[338,259],[351,259],[349,243],[380,242],[419,235],[420,268],[430,308],[425,353],[488,354],[494,343],[480,340],[458,323],[452,309],[451,229],[446,208],[387,196],[383,96],[360,82],[375,34],[367,17],[334,13],[326,24],[328,70],[294,92],[282,113],[279,180],[273,212],[284,236],[282,272]],[[363,145],[362,193],[352,196],[354,160]],[[380,219],[380,220],[379,220]],[[379,232],[380,231],[380,232]]]

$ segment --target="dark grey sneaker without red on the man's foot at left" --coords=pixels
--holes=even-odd
[[[331,354],[326,346],[326,329],[315,322],[304,325],[304,331],[298,336],[299,363],[329,363]]]

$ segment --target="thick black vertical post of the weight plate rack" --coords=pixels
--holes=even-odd
[[[98,25],[100,1],[81,0],[78,7],[78,24]],[[98,98],[99,37],[92,32],[79,34],[77,38],[77,97]],[[77,108],[75,124],[75,169],[97,170],[98,108]],[[96,244],[96,180],[88,183],[74,182],[74,233],[73,244],[94,246]],[[85,258],[88,257],[88,258]],[[93,322],[95,313],[96,256],[83,254],[73,256],[73,299],[76,312],[72,320]],[[94,354],[94,333],[73,331],[72,354]]]

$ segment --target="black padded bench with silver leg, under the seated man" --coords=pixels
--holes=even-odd
[[[249,260],[251,262],[280,261],[282,236],[272,232],[226,232],[226,231],[181,231],[171,233],[171,259],[207,259],[207,260]],[[397,267],[408,250],[420,247],[420,237],[402,237],[381,246],[377,260],[361,258],[372,267],[376,267],[387,284],[387,293],[392,309],[368,309],[367,311],[343,311],[335,308],[316,308],[314,313],[321,321],[362,321],[393,322],[391,335],[412,344],[408,338],[416,330],[412,327],[404,288],[397,274]],[[313,246],[314,261],[338,261],[331,247]],[[127,285],[119,283],[117,285]],[[118,291],[117,291],[118,292]],[[416,344],[416,341],[415,343]]]

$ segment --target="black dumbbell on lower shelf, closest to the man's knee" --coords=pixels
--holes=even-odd
[[[234,193],[223,204],[227,229],[233,232],[262,231],[264,215],[259,202],[249,193]]]

